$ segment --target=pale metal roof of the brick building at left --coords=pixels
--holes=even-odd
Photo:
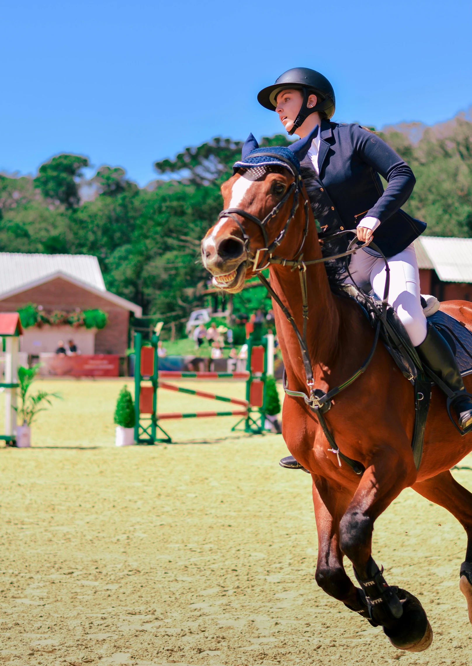
[[[57,272],[106,291],[99,260],[90,254],[0,252],[0,296]]]

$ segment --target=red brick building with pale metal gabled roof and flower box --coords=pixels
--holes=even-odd
[[[87,330],[43,326],[25,330],[23,352],[53,352],[57,340],[73,338],[84,354],[124,354],[130,312],[140,306],[107,291],[97,257],[87,254],[19,254],[0,252],[0,312],[15,312],[33,303],[46,311],[103,310],[107,326]]]

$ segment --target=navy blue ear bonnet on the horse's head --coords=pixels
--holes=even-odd
[[[260,148],[256,139],[250,134],[244,146],[242,147],[241,159],[234,163],[234,173],[238,168],[254,168],[254,166],[290,166],[284,160],[288,160],[293,165],[293,173],[300,173],[300,162],[306,157],[313,139],[318,135],[318,125],[314,130],[304,139],[294,141],[290,147],[286,146],[270,146],[267,148]],[[261,155],[261,153],[263,153]],[[270,155],[267,155],[270,153]],[[278,156],[284,160],[277,159]]]

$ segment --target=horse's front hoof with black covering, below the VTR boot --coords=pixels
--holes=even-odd
[[[407,652],[423,652],[433,642],[433,630],[423,606],[405,589],[399,589],[398,597],[403,615],[391,627],[383,627],[383,631],[393,647]]]

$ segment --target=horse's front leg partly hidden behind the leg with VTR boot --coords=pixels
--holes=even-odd
[[[323,477],[313,476],[313,504],[318,532],[318,561],[315,579],[330,597],[342,601],[351,611],[374,624],[369,617],[365,595],[346,573],[340,549],[340,518],[351,496],[341,486],[332,486]],[[376,626],[376,625],[375,625]]]

